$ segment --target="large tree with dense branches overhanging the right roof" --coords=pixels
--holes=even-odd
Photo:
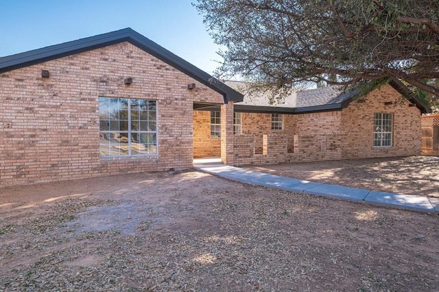
[[[273,88],[396,77],[439,97],[438,0],[198,0],[222,73]],[[329,76],[331,78],[329,78]],[[336,77],[334,77],[336,76]]]

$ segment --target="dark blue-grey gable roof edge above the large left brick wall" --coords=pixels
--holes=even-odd
[[[83,53],[84,51],[91,51],[93,49],[115,45],[119,42],[130,42],[132,45],[139,47],[139,49],[150,53],[159,60],[162,60],[182,73],[189,75],[189,77],[208,86],[217,93],[222,94],[224,96],[224,103],[227,103],[228,101],[242,101],[244,98],[241,93],[238,93],[233,88],[219,82],[208,73],[176,56],[174,53],[171,53],[171,51],[161,47],[156,42],[142,36],[131,28],[108,32],[106,34],[99,34],[89,38],[81,38],[71,42],[63,42],[59,45],[53,45],[0,58],[0,73],[70,56],[75,53]]]

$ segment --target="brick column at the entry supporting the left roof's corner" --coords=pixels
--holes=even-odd
[[[233,101],[221,105],[221,161],[233,165]]]

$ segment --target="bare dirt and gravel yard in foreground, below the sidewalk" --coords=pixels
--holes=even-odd
[[[438,215],[206,173],[0,188],[0,291],[439,291]]]

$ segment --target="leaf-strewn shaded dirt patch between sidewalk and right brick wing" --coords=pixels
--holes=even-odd
[[[371,191],[439,197],[439,156],[333,160],[245,168]]]

